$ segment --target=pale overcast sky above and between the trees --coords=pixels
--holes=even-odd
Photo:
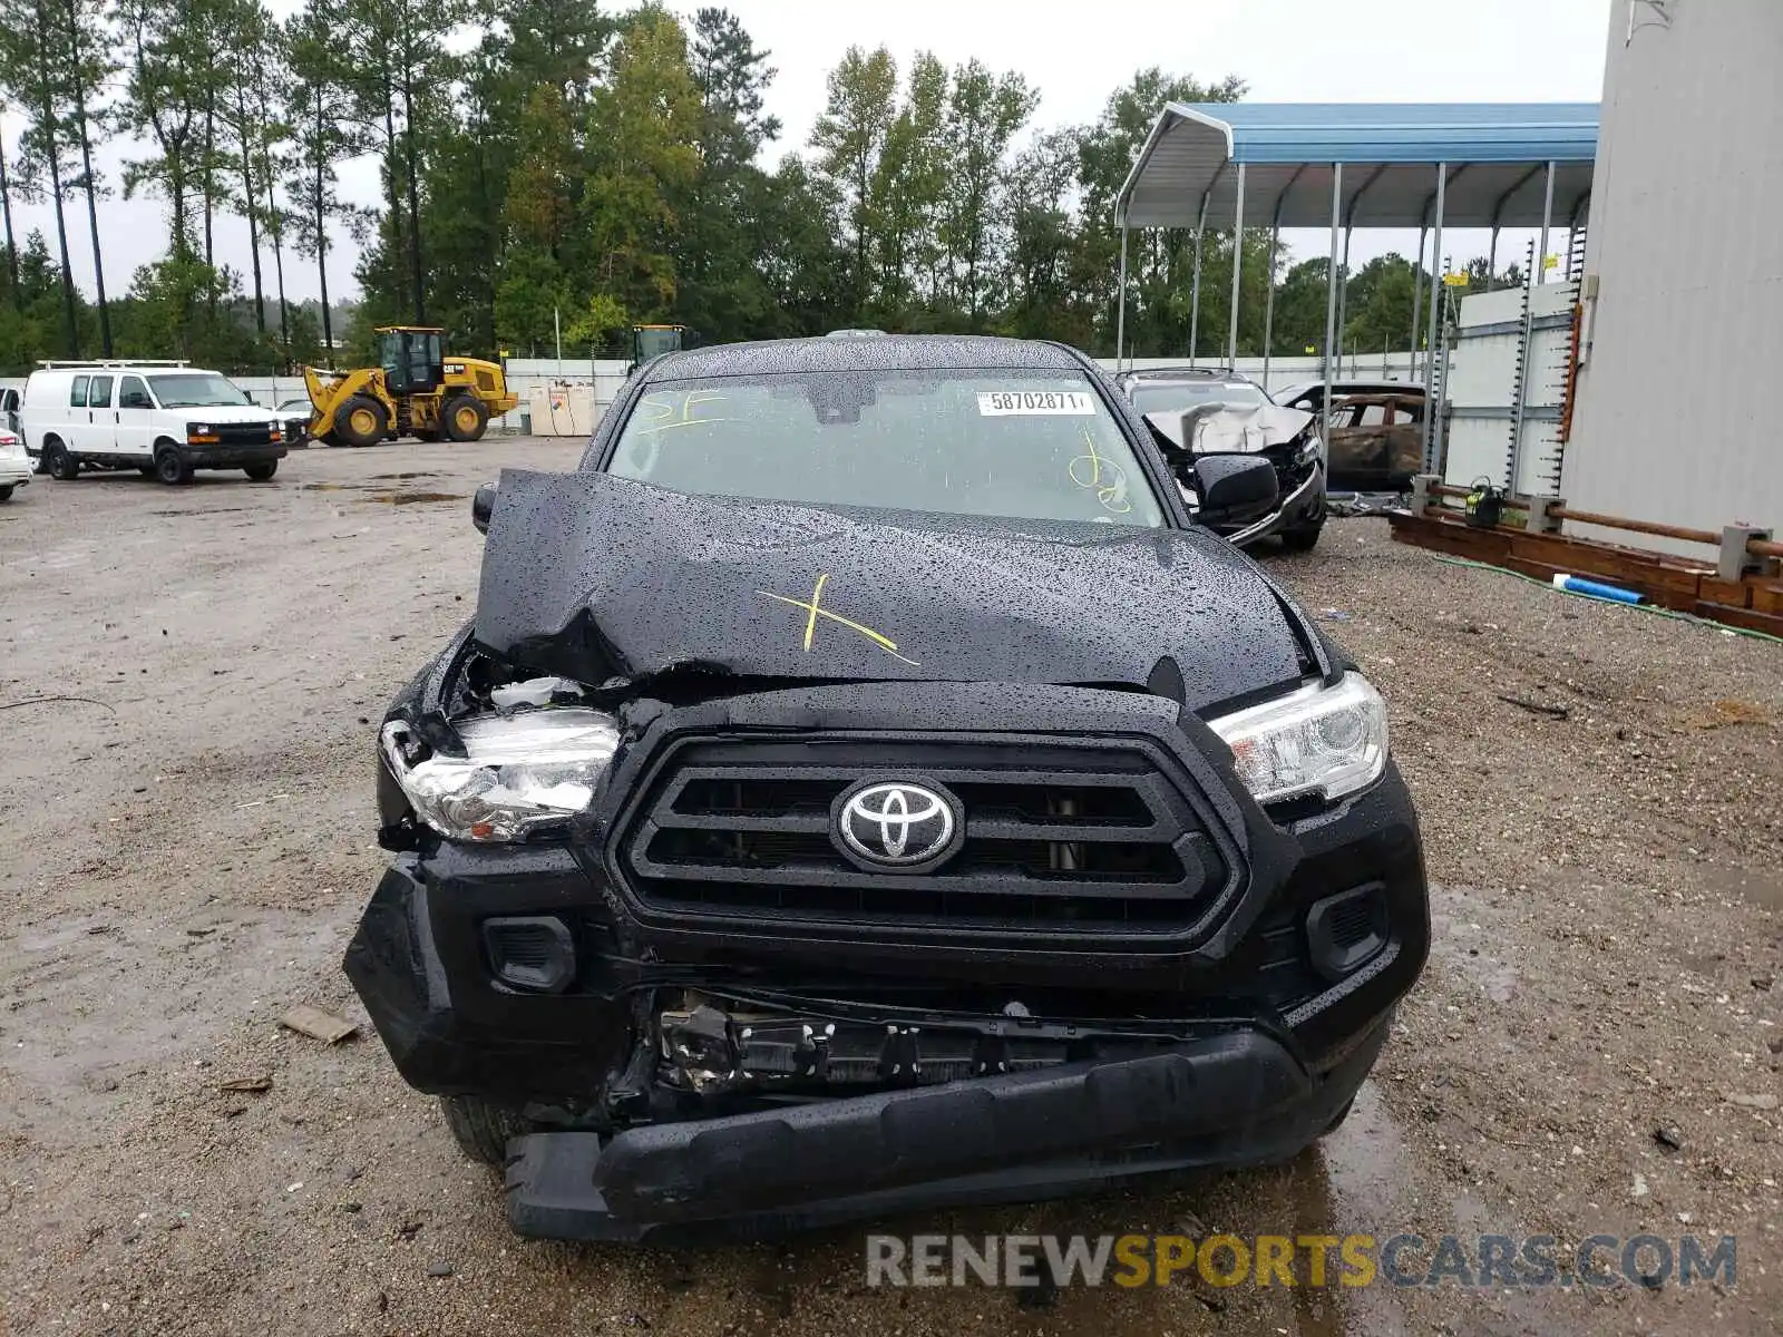
[[[719,0],[724,2],[724,0]],[[289,12],[291,0],[275,9]],[[612,5],[604,5],[612,7]],[[695,5],[676,5],[692,12]],[[1134,70],[1159,64],[1200,80],[1237,75],[1257,102],[1596,102],[1610,0],[1125,0],[1120,5],[1036,5],[1032,0],[727,0],[779,71],[768,109],[785,130],[774,157],[802,148],[824,109],[824,80],[850,45],[892,48],[900,68],[911,52],[931,50],[949,66],[970,57],[993,70],[1020,70],[1039,89],[1034,128],[1091,121],[1109,93]],[[4,119],[5,148],[16,153],[18,118]],[[112,187],[119,164],[137,150],[111,144],[100,171]],[[371,160],[342,169],[346,193],[376,203]],[[46,205],[18,205],[20,241],[41,228],[55,250]],[[86,210],[68,209],[75,276],[93,291]],[[137,266],[166,251],[166,216],[155,200],[100,203],[107,287],[116,294]],[[1323,253],[1323,234],[1286,234],[1294,253]],[[1485,234],[1460,232],[1444,244],[1457,262],[1485,253]],[[1524,234],[1505,230],[1500,262],[1523,253]],[[330,292],[353,291],[351,244],[339,239]],[[1409,234],[1357,234],[1353,262],[1401,250]],[[1549,246],[1555,250],[1555,246]],[[219,219],[219,260],[248,273],[248,228]],[[271,291],[271,253],[264,257]],[[316,294],[314,264],[285,257],[285,287]]]

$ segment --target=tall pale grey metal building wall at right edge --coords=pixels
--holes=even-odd
[[[1779,0],[1612,5],[1573,506],[1783,529],[1779,73]]]

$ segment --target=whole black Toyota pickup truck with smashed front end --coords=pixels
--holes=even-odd
[[[1375,688],[1054,344],[656,358],[478,494],[346,954],[510,1223],[760,1235],[1298,1153],[1428,948]]]

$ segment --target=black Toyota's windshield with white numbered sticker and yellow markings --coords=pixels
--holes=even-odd
[[[1164,522],[1086,376],[804,373],[654,385],[608,465],[704,496],[954,515]]]

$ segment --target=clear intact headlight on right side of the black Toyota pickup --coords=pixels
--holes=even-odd
[[[1321,793],[1341,799],[1387,767],[1387,708],[1362,674],[1209,720],[1232,749],[1257,802]]]

